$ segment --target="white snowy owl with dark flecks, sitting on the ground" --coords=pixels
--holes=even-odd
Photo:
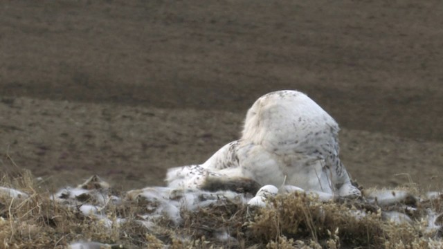
[[[251,181],[360,196],[338,158],[338,131],[334,118],[304,93],[268,93],[248,109],[239,140],[221,147],[202,165],[170,169],[166,181],[184,188]]]

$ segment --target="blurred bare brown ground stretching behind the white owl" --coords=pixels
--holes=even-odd
[[[298,89],[359,183],[441,189],[442,26],[441,1],[2,1],[0,167],[161,185]]]

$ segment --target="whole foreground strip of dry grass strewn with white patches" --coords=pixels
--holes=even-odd
[[[278,193],[277,193],[278,192]],[[255,193],[147,187],[116,192],[98,176],[49,193],[33,176],[3,177],[2,248],[435,248],[443,196],[363,190],[319,200],[265,186]],[[253,199],[259,197],[259,205]]]

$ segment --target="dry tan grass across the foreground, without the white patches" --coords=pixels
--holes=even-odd
[[[382,212],[401,205],[381,207],[364,200],[320,203],[305,194],[278,195],[270,208],[246,208],[241,202],[181,210],[183,221],[174,225],[159,219],[154,226],[140,222],[149,213],[146,203],[125,199],[107,203],[107,221],[80,212],[82,204],[66,205],[51,199],[29,173],[3,176],[1,186],[26,193],[12,197],[0,192],[1,248],[65,248],[74,241],[96,241],[109,248],[435,248],[440,238],[426,232],[424,210],[439,212],[441,199],[415,203],[414,223],[393,223]],[[87,184],[84,188],[99,188]],[[2,193],[2,194],[1,194]],[[93,203],[91,196],[78,203]],[[365,215],[359,215],[364,210]],[[403,210],[402,212],[405,212]],[[360,213],[361,214],[361,213]],[[125,222],[117,222],[119,218]],[[109,222],[110,221],[110,222]],[[149,228],[148,228],[149,227]]]

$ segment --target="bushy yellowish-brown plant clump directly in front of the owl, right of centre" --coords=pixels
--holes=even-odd
[[[397,248],[400,244],[415,248],[422,238],[419,229],[383,221],[381,210],[364,208],[362,201],[320,203],[305,194],[288,194],[275,197],[271,205],[271,209],[257,210],[249,225],[257,241],[284,237],[308,244],[314,241],[323,248]],[[364,216],[359,212],[362,209],[367,212]]]

